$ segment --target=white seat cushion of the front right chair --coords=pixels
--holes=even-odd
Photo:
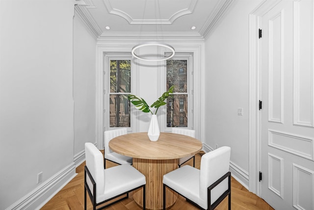
[[[200,170],[189,165],[163,175],[162,182],[198,204],[200,200]]]

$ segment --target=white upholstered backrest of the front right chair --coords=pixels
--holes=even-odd
[[[230,153],[230,147],[220,147],[204,154],[201,158],[200,199],[206,204],[208,193],[207,188],[229,172]],[[211,204],[215,202],[227,189],[228,178],[212,189]]]

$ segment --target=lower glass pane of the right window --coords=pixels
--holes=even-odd
[[[167,127],[187,127],[186,94],[174,94],[167,99]]]

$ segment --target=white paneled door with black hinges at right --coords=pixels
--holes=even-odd
[[[261,19],[262,198],[314,210],[313,0],[281,0]]]

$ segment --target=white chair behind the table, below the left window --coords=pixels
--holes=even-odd
[[[118,154],[109,148],[109,142],[111,139],[121,136],[124,134],[127,134],[128,130],[127,128],[119,128],[115,130],[107,130],[104,132],[104,138],[105,138],[105,144],[104,144],[104,168],[106,168],[106,160],[109,160],[114,163],[118,164],[130,164],[132,165],[132,158]]]

